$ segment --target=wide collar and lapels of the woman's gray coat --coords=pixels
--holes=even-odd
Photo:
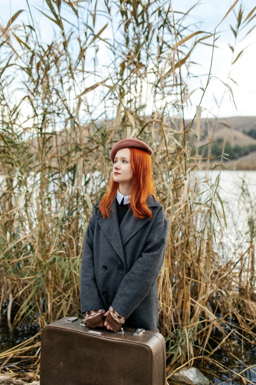
[[[100,200],[101,201],[101,200]],[[94,207],[99,207],[100,201]],[[158,206],[156,199],[153,195],[147,198],[148,207]],[[117,215],[117,202],[114,199],[112,203],[112,210],[110,210],[110,218],[103,219],[102,213],[97,212],[97,221],[102,228],[105,236],[111,243],[114,250],[117,252],[122,262],[125,264],[125,255],[123,247],[128,240],[133,237],[139,229],[144,226],[150,219],[148,217],[137,220],[131,208],[128,211],[119,226],[118,215]]]

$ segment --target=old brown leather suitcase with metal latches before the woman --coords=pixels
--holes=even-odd
[[[162,334],[121,327],[89,328],[64,317],[43,329],[40,385],[165,385]]]

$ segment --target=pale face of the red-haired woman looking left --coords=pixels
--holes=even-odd
[[[118,173],[118,174],[115,174]],[[130,149],[121,148],[117,151],[113,165],[113,179],[115,182],[128,182],[133,171],[130,165]]]

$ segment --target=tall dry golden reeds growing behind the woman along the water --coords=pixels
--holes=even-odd
[[[134,137],[154,149],[156,194],[170,224],[158,281],[159,331],[168,342],[167,380],[182,365],[210,359],[209,341],[216,328],[223,341],[235,334],[255,344],[256,235],[250,233],[246,253],[238,249],[223,262],[215,243],[225,229],[219,176],[208,182],[203,198],[202,185],[193,174],[202,159],[191,157],[187,142],[189,135],[194,140],[197,135],[193,122],[186,127],[183,114],[189,98],[183,79],[190,74],[190,56],[200,43],[207,42],[214,50],[215,31],[205,33],[194,26],[191,32],[187,14],[166,4],[122,2],[110,9],[105,3],[106,22],[112,24],[114,11],[122,20],[121,35],[118,39],[114,35],[110,43],[102,38],[104,28],[96,28],[95,3],[88,3],[88,8],[77,1],[57,2],[59,7],[54,1],[46,3],[45,17],[51,17],[61,31],[50,45],[40,41],[32,19],[28,28],[14,25],[14,16],[0,36],[0,308],[8,303],[9,323],[13,303],[19,311],[12,326],[39,323],[42,328],[66,315],[81,317],[79,271],[93,203],[105,192],[111,175],[110,148],[120,139]],[[80,47],[75,59],[60,4],[77,25],[79,20],[72,37]],[[235,12],[233,50],[237,35],[254,14],[247,18],[241,8]],[[107,68],[97,66],[102,45],[112,58]],[[93,66],[89,50],[94,50]],[[20,86],[25,96],[19,104],[8,92],[17,74],[25,79]],[[93,84],[89,75],[94,76]],[[209,82],[210,71],[204,93]],[[147,116],[151,100],[152,114]],[[28,121],[22,114],[26,103],[31,107]],[[200,107],[197,111],[199,135]],[[114,118],[106,118],[107,114]],[[25,140],[26,133],[33,137]],[[206,157],[209,160],[210,152]],[[223,149],[221,168],[224,159]],[[7,357],[27,355],[28,347],[22,349],[1,353],[1,365],[6,366]]]

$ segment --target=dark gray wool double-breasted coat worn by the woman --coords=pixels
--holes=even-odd
[[[100,200],[101,201],[101,200]],[[124,326],[157,331],[157,277],[165,258],[168,221],[153,195],[152,219],[137,220],[129,207],[120,226],[114,199],[110,218],[99,202],[86,230],[80,271],[81,312],[111,305],[126,318]]]

